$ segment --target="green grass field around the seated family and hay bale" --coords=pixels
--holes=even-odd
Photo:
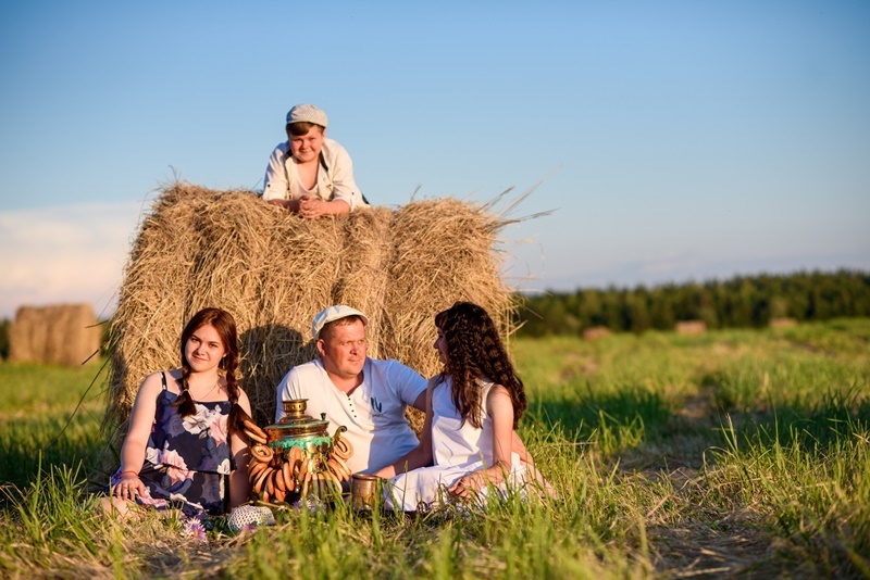
[[[0,575],[870,577],[870,320],[510,348],[557,499],[279,510],[208,541],[96,513],[96,367],[0,365]]]

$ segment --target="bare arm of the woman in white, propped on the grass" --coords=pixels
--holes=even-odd
[[[468,497],[469,492],[482,490],[487,482],[501,483],[510,471],[513,441],[513,403],[508,390],[494,384],[486,395],[486,413],[493,417],[493,465],[472,471],[456,480],[448,491]]]

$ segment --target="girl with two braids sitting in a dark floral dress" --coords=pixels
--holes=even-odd
[[[248,500],[250,403],[236,381],[233,316],[198,312],[182,332],[181,354],[181,368],[149,375],[136,394],[107,499],[122,515],[133,503],[219,515]]]

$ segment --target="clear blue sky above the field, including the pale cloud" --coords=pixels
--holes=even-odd
[[[373,203],[539,182],[523,289],[870,269],[869,30],[862,1],[7,2],[0,316],[111,312],[156,188],[261,187],[301,102]]]

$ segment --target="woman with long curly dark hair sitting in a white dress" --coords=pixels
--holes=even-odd
[[[444,371],[428,382],[420,446],[377,474],[389,478],[388,508],[414,512],[489,489],[519,490],[533,476],[526,474],[533,465],[511,452],[525,390],[493,319],[476,304],[457,302],[435,325]]]

